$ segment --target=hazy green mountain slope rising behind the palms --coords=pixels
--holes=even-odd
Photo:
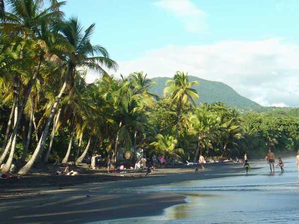
[[[150,91],[156,95],[162,97],[163,89],[167,80],[171,78],[168,77],[156,77],[152,78],[156,85],[151,87]],[[215,81],[209,81],[205,79],[200,79],[198,77],[189,76],[189,81],[199,81],[199,85],[193,86],[197,91],[199,98],[197,103],[215,103],[222,102],[228,107],[237,108],[259,108],[262,107],[254,101],[242,97],[230,86]]]

